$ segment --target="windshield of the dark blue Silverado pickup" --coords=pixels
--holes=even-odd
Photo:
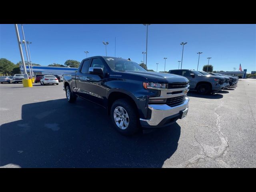
[[[114,71],[147,71],[138,63],[122,58],[104,57],[110,68]]]

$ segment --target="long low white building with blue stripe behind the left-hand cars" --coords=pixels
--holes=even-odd
[[[47,74],[47,75],[59,75],[62,76],[63,74],[72,73],[77,70],[74,67],[54,67],[54,66],[32,66],[34,75],[36,74]],[[26,65],[27,74],[29,75],[29,68]],[[20,72],[24,74],[23,66],[20,65]]]

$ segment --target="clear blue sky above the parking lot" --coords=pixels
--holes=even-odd
[[[21,26],[19,26],[22,38]],[[146,26],[142,24],[25,24],[25,38],[30,45],[31,60],[34,63],[64,64],[68,59],[81,61],[89,56],[104,56],[108,41],[108,56],[131,58],[137,63],[143,60],[146,51]],[[181,60],[181,42],[184,46],[182,68],[195,69],[207,64],[207,57],[214,70],[242,69],[250,73],[256,70],[256,25],[255,24],[152,24],[148,27],[148,69],[177,69]],[[23,46],[24,50],[24,46]],[[0,25],[0,57],[15,64],[20,53],[14,24]],[[24,58],[26,53],[24,50]],[[145,56],[146,60],[146,56]]]

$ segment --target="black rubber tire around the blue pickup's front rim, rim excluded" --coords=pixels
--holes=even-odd
[[[114,119],[114,110],[117,107],[122,107],[124,108],[124,110],[127,112],[128,114],[128,126],[125,129],[121,129],[117,126],[115,119]],[[138,113],[136,111],[136,108],[134,107],[134,105],[132,104],[132,102],[130,102],[130,100],[128,99],[118,99],[116,100],[112,106],[111,106],[111,110],[110,110],[110,116],[111,116],[111,120],[114,124],[115,129],[122,135],[126,135],[126,136],[130,136],[133,135],[135,133],[137,133],[140,130],[140,124],[139,124],[139,117],[138,117]]]

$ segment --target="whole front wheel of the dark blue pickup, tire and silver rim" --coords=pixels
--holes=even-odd
[[[128,99],[116,100],[111,106],[111,119],[122,135],[133,135],[140,130],[136,108]]]

